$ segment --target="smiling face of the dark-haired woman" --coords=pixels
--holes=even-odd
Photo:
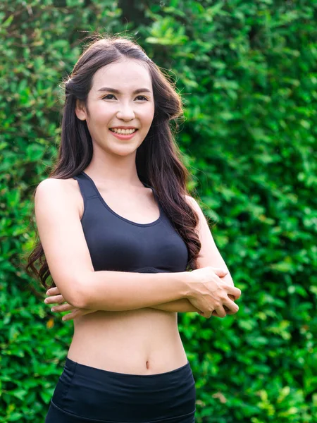
[[[100,68],[92,80],[87,109],[77,102],[77,118],[87,121],[94,147],[122,156],[135,152],[149,132],[154,118],[149,71],[142,63],[129,59]],[[123,134],[116,136],[111,131],[116,127],[137,130],[132,137]]]

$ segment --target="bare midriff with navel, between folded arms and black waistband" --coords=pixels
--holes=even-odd
[[[187,363],[175,312],[98,311],[73,321],[68,357],[80,364],[110,372],[159,374]]]

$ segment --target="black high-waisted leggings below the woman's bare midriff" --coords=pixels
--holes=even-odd
[[[109,372],[66,357],[45,423],[194,423],[189,362],[159,374]]]

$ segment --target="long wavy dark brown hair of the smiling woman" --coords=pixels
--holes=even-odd
[[[201,243],[195,228],[199,216],[185,200],[185,195],[188,195],[186,185],[190,174],[182,164],[182,154],[170,128],[171,121],[175,124],[175,128],[178,128],[177,118],[182,116],[182,101],[170,78],[164,75],[142,47],[129,37],[120,35],[94,37],[80,55],[68,80],[63,81],[66,99],[61,123],[61,144],[49,178],[73,178],[90,163],[92,138],[86,121],[81,121],[75,114],[76,99],[82,100],[87,106],[87,96],[92,87],[94,73],[99,68],[122,59],[135,59],[147,63],[154,94],[154,118],[151,128],[136,154],[139,179],[156,190],[164,211],[186,243],[189,253],[187,270],[197,269],[196,261]],[[27,257],[25,270],[30,276],[35,275],[39,278],[44,288],[49,288],[45,281],[50,276],[50,271],[37,228],[35,234],[37,244]],[[35,267],[37,260],[41,265],[39,270]]]

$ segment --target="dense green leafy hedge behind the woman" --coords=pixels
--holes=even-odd
[[[185,100],[178,143],[242,290],[179,314],[197,422],[317,421],[316,2],[4,0],[0,5],[0,422],[43,422],[73,323],[23,269],[81,40],[133,35]],[[196,191],[195,191],[196,190]]]

